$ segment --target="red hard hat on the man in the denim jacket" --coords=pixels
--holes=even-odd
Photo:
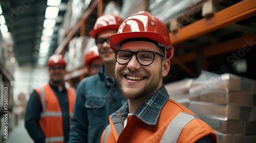
[[[89,32],[90,36],[96,39],[97,34],[105,29],[116,29],[118,30],[119,26],[123,22],[123,18],[114,14],[106,14],[100,16],[94,25],[93,30]]]

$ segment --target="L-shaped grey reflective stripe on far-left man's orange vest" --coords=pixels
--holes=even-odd
[[[46,116],[60,116],[62,117],[62,112],[50,112],[46,110],[46,100],[45,100],[45,91],[42,88],[39,88],[41,93],[41,101],[42,101],[42,109],[43,111],[40,114],[40,117],[46,117]]]

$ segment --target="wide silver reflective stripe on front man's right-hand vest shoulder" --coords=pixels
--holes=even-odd
[[[167,129],[165,130],[163,137],[160,141],[160,143],[164,143],[164,142],[177,142],[179,137],[180,137],[180,133],[182,131],[182,129],[192,120],[194,120],[195,118],[199,119],[199,117],[197,117],[194,114],[190,114],[187,112],[180,112],[174,119],[172,122],[170,122],[169,126],[167,127]],[[200,119],[199,119],[200,120]]]

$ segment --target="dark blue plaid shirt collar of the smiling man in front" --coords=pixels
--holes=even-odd
[[[144,102],[133,114],[148,125],[156,125],[160,112],[169,99],[169,94],[164,86],[157,90],[146,102]],[[120,123],[127,118],[129,113],[128,103],[125,103],[117,112],[111,115],[113,123]],[[120,118],[119,114],[123,118]]]

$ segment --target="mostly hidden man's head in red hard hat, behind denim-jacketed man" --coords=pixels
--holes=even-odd
[[[85,56],[84,67],[88,70],[88,75],[92,76],[98,73],[100,65],[103,64],[103,61],[99,57],[98,47],[94,45],[91,47]]]

